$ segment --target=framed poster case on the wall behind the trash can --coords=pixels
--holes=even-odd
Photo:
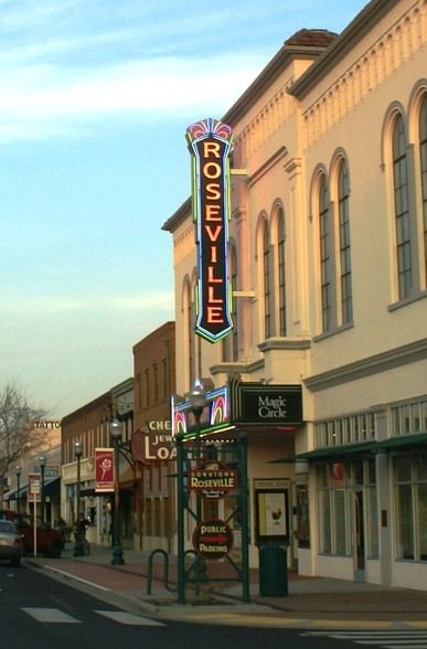
[[[256,542],[289,544],[288,480],[255,480]]]

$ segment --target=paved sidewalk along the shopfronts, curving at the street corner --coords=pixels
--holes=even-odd
[[[122,566],[111,566],[109,547],[92,546],[90,556],[73,557],[67,545],[60,560],[26,557],[25,562],[57,578],[72,579],[111,602],[169,619],[211,624],[245,624],[327,628],[387,628],[403,626],[427,630],[427,591],[388,588],[372,584],[322,577],[288,575],[288,595],[261,597],[259,575],[250,571],[250,603],[242,602],[242,584],[214,582],[196,594],[186,587],[186,604],[177,604],[175,563],[169,566],[169,587],[163,584],[163,562],[153,564],[151,594],[148,594],[148,554],[125,550]],[[215,562],[220,577],[226,577],[227,564]],[[220,571],[220,572],[218,572]],[[221,572],[223,571],[223,572]],[[229,573],[228,573],[229,576]]]

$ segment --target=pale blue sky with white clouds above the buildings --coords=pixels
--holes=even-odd
[[[0,0],[0,391],[57,419],[174,319],[188,126],[366,0]]]

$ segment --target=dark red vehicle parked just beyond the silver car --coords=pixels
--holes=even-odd
[[[18,529],[18,533],[23,541],[24,553],[34,553],[34,518],[28,513],[20,513],[9,509],[0,509],[0,521],[12,521]],[[61,553],[64,549],[64,534],[61,530],[54,530],[50,525],[42,522],[40,518],[35,518],[36,532],[36,552],[61,558]]]

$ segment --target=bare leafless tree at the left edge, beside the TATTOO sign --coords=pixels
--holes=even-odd
[[[0,502],[10,465],[21,456],[40,447],[43,432],[34,429],[34,422],[45,412],[33,407],[15,384],[0,392]]]

